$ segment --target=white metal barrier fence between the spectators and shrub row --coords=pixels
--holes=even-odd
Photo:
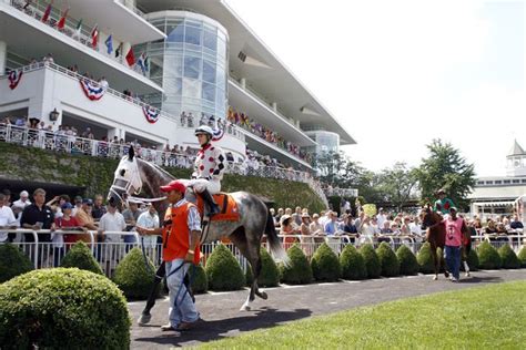
[[[17,245],[21,251],[23,251],[31,260],[36,269],[38,268],[52,268],[61,265],[64,255],[71,249],[72,244],[63,243],[63,239],[58,239],[58,235],[82,235],[88,247],[91,249],[94,259],[100,264],[102,270],[108,277],[112,277],[117,265],[124,258],[124,256],[134,247],[143,248],[148,259],[150,259],[155,267],[159,267],[162,259],[162,243],[156,236],[151,236],[151,240],[143,241],[142,238],[135,231],[105,231],[104,241],[98,241],[97,231],[65,231],[55,230],[52,233],[53,241],[40,241],[39,235],[50,234],[50,230],[31,230],[31,229],[14,229],[6,230],[4,233],[16,234],[14,245]],[[31,237],[34,241],[23,241],[22,237]],[[30,239],[31,239],[30,238]],[[364,244],[373,244],[376,248],[382,241],[386,241],[393,248],[398,249],[401,246],[407,246],[414,254],[417,254],[423,245],[422,239],[418,237],[409,236],[383,236],[377,238],[365,238],[357,237],[356,235],[342,235],[342,236],[301,236],[301,235],[287,235],[280,236],[285,249],[289,249],[294,244],[304,251],[310,259],[314,251],[324,243],[336,254],[340,255],[345,246],[353,245],[360,248]],[[148,239],[148,238],[146,238]],[[526,246],[526,235],[517,234],[507,237],[493,237],[473,236],[473,247],[478,247],[484,240],[487,240],[495,248],[499,248],[504,245],[509,245],[512,249],[518,254],[519,250]],[[208,257],[212,254],[214,248],[221,243],[208,243],[201,246],[202,262],[205,264]],[[246,271],[250,264],[243,257],[241,251],[231,243],[224,244],[234,255],[240,262],[243,271]],[[266,247],[266,243],[262,245]]]

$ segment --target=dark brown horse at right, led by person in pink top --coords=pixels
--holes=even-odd
[[[441,214],[433,212],[429,205],[422,208],[422,223],[426,228],[426,240],[429,243],[431,256],[433,258],[433,266],[435,270],[434,280],[438,279],[438,272],[441,267],[444,266],[444,276],[449,277],[447,267],[444,264],[444,246],[446,245],[446,225],[443,223],[443,217]],[[437,225],[438,224],[438,225]],[[467,255],[472,248],[472,240],[469,236],[469,229],[466,225],[462,227],[462,260],[464,262],[464,269],[466,276],[469,276],[469,266],[467,266]],[[443,254],[442,256],[436,256],[436,249],[441,248]]]

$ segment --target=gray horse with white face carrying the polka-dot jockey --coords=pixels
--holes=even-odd
[[[110,202],[115,202],[120,207],[125,203],[128,195],[143,193],[150,198],[153,197],[159,199],[158,202],[154,202],[154,206],[162,218],[166,208],[166,202],[163,198],[160,187],[173,179],[174,177],[161,167],[138,158],[134,154],[133,147],[130,147],[128,156],[122,157],[115,171],[115,176],[108,199]],[[184,179],[182,181],[185,182]],[[289,257],[281,245],[274,227],[274,222],[265,203],[246,192],[235,192],[230,195],[237,204],[240,220],[211,222],[209,224],[210,227],[205,228],[206,235],[203,235],[205,237],[204,241],[201,241],[201,244],[215,241],[221,237],[229,237],[229,239],[249,260],[252,267],[254,281],[252,282],[249,297],[241,307],[241,310],[250,310],[250,302],[254,301],[255,296],[262,299],[267,298],[266,294],[260,291],[257,287],[257,277],[261,272],[260,247],[263,234],[266,234],[269,247],[275,260],[289,264]],[[189,196],[193,197],[192,194],[188,193],[186,197]],[[164,277],[164,274],[163,264],[155,274],[154,289],[158,287],[156,285],[161,281],[162,277]],[[150,321],[150,309],[155,303],[154,296],[155,292],[152,290],[146,307],[139,320],[140,323],[148,323]]]

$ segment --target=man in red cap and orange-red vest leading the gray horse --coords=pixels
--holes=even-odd
[[[201,218],[195,205],[184,199],[186,186],[172,181],[161,187],[170,203],[164,215],[163,227],[138,227],[140,235],[159,235],[163,238],[163,260],[166,264],[166,284],[170,296],[170,323],[163,331],[189,330],[199,321],[199,313],[184,285],[184,276],[192,264],[200,259]]]

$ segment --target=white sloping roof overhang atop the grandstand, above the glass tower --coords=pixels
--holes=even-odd
[[[356,143],[224,0],[138,0],[138,6],[149,12],[186,8],[219,21],[229,31],[229,65],[234,78],[245,79],[246,86],[269,104],[275,102],[284,115],[300,121],[302,127],[321,125],[337,133],[342,145]]]

